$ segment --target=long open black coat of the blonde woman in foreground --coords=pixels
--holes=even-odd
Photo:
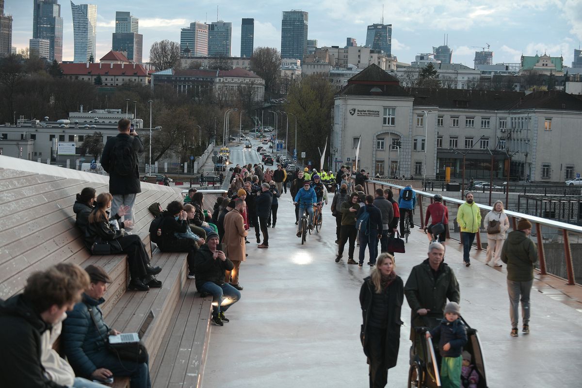
[[[402,279],[396,276],[396,279],[388,286],[388,326],[386,326],[386,342],[384,365],[386,368],[393,368],[398,361],[398,348],[400,346],[400,310],[404,300],[404,289]],[[361,325],[360,340],[364,347],[364,354],[368,356],[368,321],[372,306],[372,296],[375,293],[374,283],[370,276],[364,279],[360,289],[360,306],[362,309],[363,325]],[[370,361],[368,361],[370,364]]]

